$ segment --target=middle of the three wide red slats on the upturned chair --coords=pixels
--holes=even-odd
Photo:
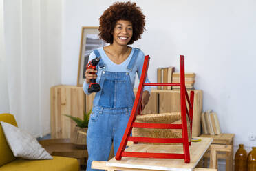
[[[183,143],[182,138],[129,137],[128,141],[136,141],[143,143]]]

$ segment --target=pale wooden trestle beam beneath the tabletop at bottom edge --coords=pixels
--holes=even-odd
[[[92,161],[92,169],[100,170],[123,170],[123,171],[152,171],[147,169],[134,169],[134,168],[118,168],[107,166],[107,161]],[[195,168],[193,171],[217,171],[217,169],[210,168]]]

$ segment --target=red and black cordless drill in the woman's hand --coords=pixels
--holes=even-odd
[[[96,66],[98,65],[98,62],[100,61],[100,58],[92,59],[92,61],[89,61],[86,65],[86,69],[94,69],[96,70]],[[96,79],[90,79],[91,83],[89,84],[88,92],[98,92],[100,91],[100,85],[96,83]]]

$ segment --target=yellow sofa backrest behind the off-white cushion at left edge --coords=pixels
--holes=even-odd
[[[12,125],[17,126],[17,123],[12,114],[0,114],[0,121],[4,121],[6,123],[11,123]],[[10,161],[15,160],[14,155],[12,154],[12,150],[6,141],[6,137],[3,134],[3,129],[0,124],[0,167]]]

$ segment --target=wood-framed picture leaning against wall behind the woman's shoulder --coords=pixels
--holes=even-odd
[[[85,70],[89,54],[94,49],[102,46],[105,46],[105,41],[98,37],[98,27],[82,27],[77,86],[82,86],[85,81]]]

